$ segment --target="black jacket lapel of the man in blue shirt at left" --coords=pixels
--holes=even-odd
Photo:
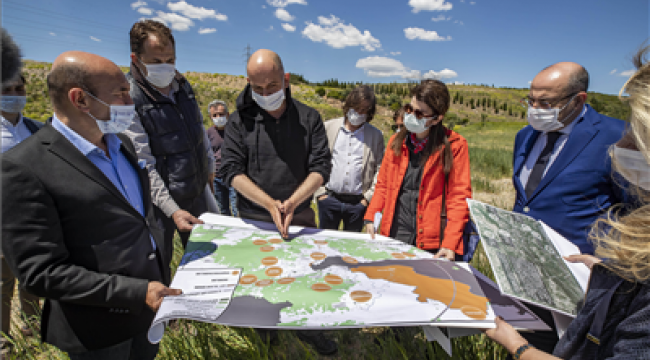
[[[104,175],[104,173],[95,166],[84,154],[79,151],[68,139],[61,135],[53,127],[45,127],[41,131],[46,131],[46,140],[49,142],[49,150],[55,155],[59,156],[63,161],[70,164],[70,166],[77,169],[79,172],[85,174],[89,179],[103,186],[108,192],[120,198],[129,208],[133,206],[122,195],[122,193],[113,185],[113,183]],[[133,209],[135,211],[135,209]]]

